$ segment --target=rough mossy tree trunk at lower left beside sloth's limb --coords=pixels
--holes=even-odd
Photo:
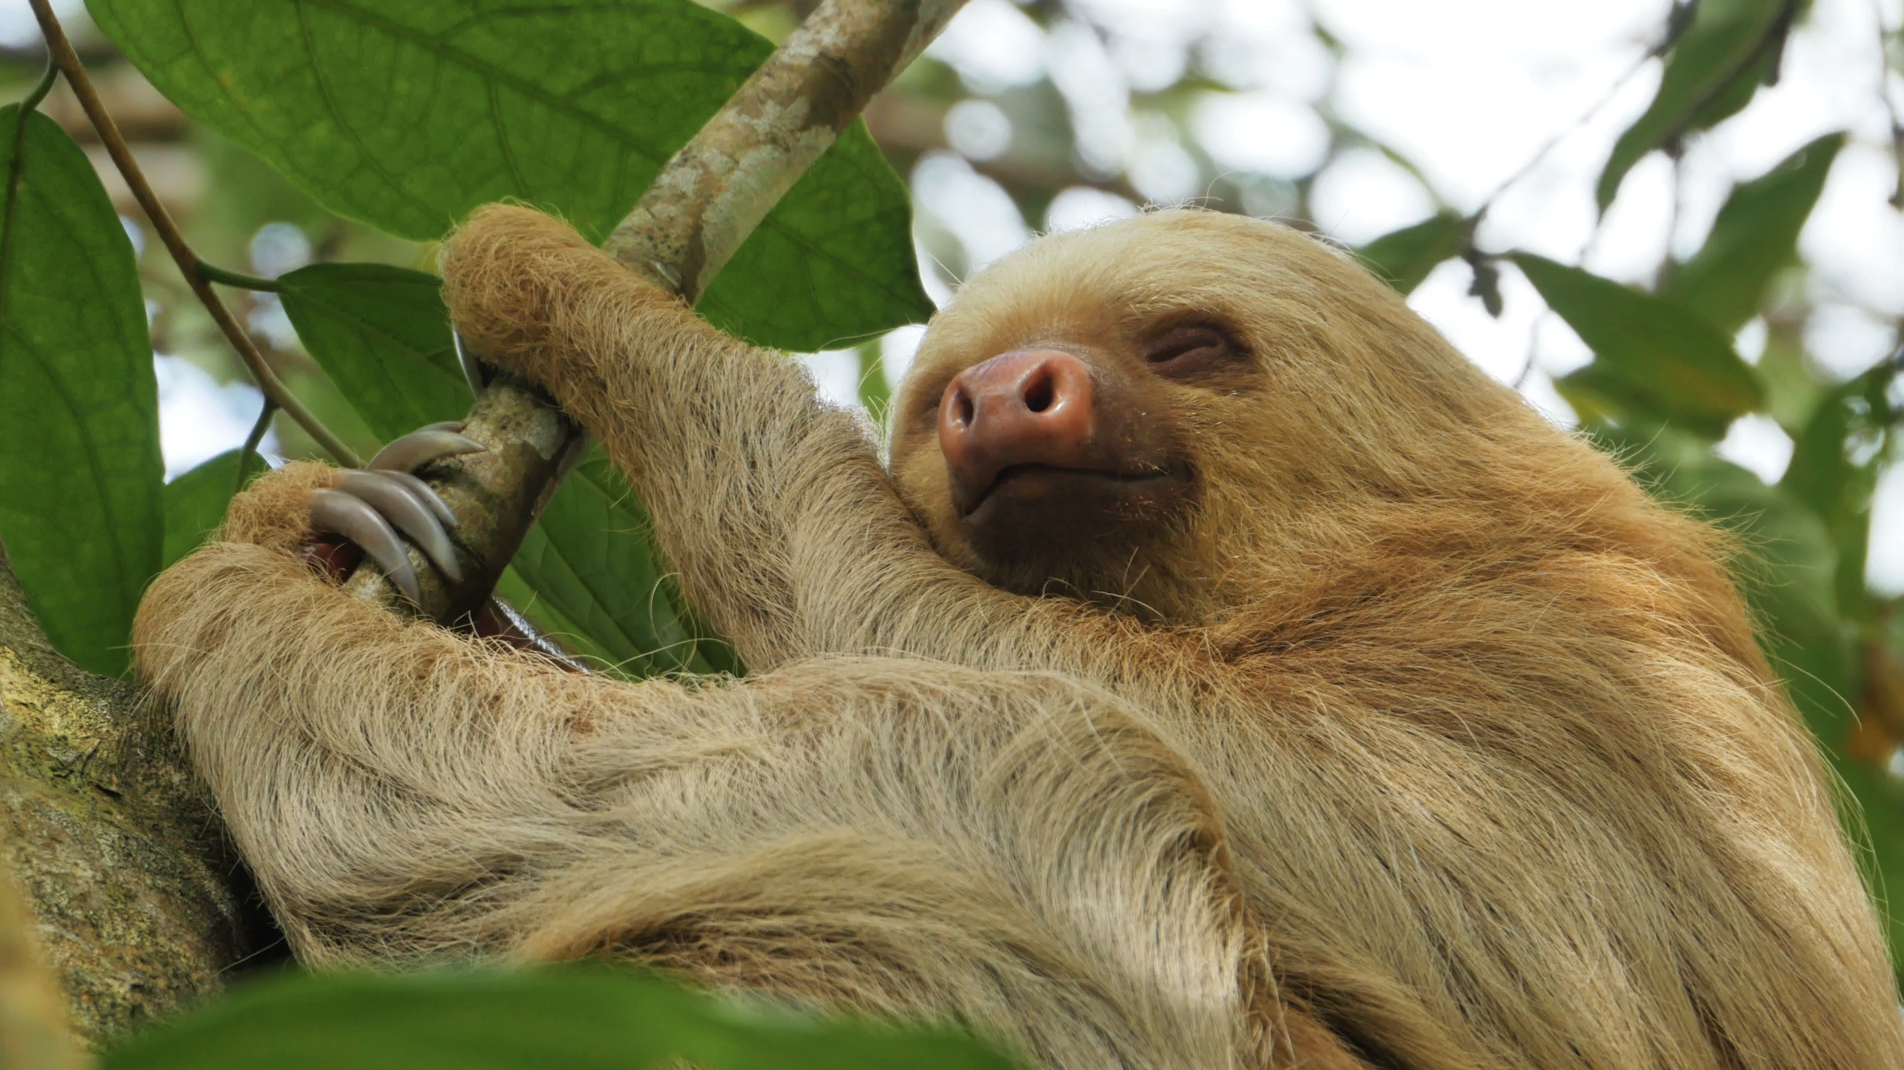
[[[129,684],[40,634],[0,554],[0,864],[84,1043],[219,988],[251,952],[223,824]]]

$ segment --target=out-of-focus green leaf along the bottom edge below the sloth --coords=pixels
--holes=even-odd
[[[105,1070],[1009,1070],[944,1028],[821,1020],[607,967],[288,977],[107,1053]]]

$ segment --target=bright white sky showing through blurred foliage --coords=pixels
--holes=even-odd
[[[55,0],[76,13],[78,0]],[[1051,76],[1072,110],[1087,169],[1125,173],[1156,204],[1194,200],[1203,179],[1179,137],[1194,139],[1219,166],[1293,177],[1325,154],[1329,131],[1316,107],[1386,141],[1415,160],[1424,188],[1375,152],[1348,152],[1318,177],[1312,208],[1337,238],[1359,244],[1426,217],[1436,200],[1472,211],[1519,173],[1556,135],[1546,158],[1497,198],[1479,232],[1483,249],[1531,249],[1626,282],[1645,282],[1666,251],[1696,249],[1731,181],[1761,173],[1805,141],[1849,129],[1818,209],[1801,238],[1813,265],[1818,312],[1807,337],[1820,366],[1851,377],[1896,345],[1904,314],[1904,217],[1885,204],[1894,185],[1889,116],[1877,103],[1885,78],[1879,19],[1896,27],[1904,0],[1815,0],[1794,30],[1782,80],[1761,89],[1740,116],[1695,139],[1677,192],[1655,154],[1634,168],[1594,236],[1592,187],[1599,166],[1658,84],[1658,63],[1641,63],[1670,0],[1080,0],[1102,30],[1076,23],[1047,34],[1009,0],[969,0],[931,53],[956,67],[975,93]],[[1308,13],[1344,46],[1340,63],[1306,30]],[[25,0],[0,0],[0,42],[36,36]],[[1209,44],[1198,44],[1209,42]],[[1234,86],[1211,93],[1179,131],[1161,114],[1133,114],[1131,89],[1175,84],[1192,65]],[[1904,80],[1891,74],[1904,103]],[[1624,82],[1622,82],[1624,80]],[[1597,110],[1596,110],[1597,109]],[[1592,114],[1584,126],[1582,116]],[[969,158],[1009,143],[1009,120],[984,101],[948,118],[948,139]],[[1047,219],[1022,219],[1011,198],[952,152],[925,156],[912,173],[927,225],[950,230],[969,263],[982,267],[1036,230],[1085,227],[1137,211],[1093,188],[1061,194]],[[1677,200],[1677,206],[1676,206]],[[1249,204],[1272,215],[1276,204]],[[268,249],[255,249],[268,253]],[[274,259],[259,255],[261,261]],[[259,270],[280,265],[257,263]],[[293,265],[295,267],[295,265]],[[946,287],[925,267],[937,299]],[[1552,375],[1584,360],[1569,327],[1546,314],[1533,287],[1502,263],[1504,314],[1495,320],[1466,295],[1462,263],[1441,265],[1411,297],[1462,352],[1559,421],[1565,404]],[[276,324],[255,324],[272,327]],[[918,345],[918,327],[885,341],[897,381]],[[1740,337],[1755,358],[1763,331]],[[1531,367],[1529,367],[1531,360]],[[805,358],[823,390],[853,400],[853,354]],[[249,386],[221,386],[183,360],[160,358],[168,474],[238,446],[257,413]],[[1746,417],[1721,451],[1775,480],[1792,444],[1765,417]],[[1904,592],[1904,466],[1887,472],[1874,516],[1870,579]]]

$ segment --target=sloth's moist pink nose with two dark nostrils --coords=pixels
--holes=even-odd
[[[939,449],[954,497],[982,497],[1015,465],[1093,468],[1095,434],[1091,369],[1055,348],[975,364],[939,398]]]

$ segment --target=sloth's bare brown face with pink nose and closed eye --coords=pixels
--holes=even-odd
[[[1127,596],[1196,516],[1198,411],[1255,377],[1238,331],[1198,308],[933,350],[895,409],[893,472],[941,552],[986,581]]]

